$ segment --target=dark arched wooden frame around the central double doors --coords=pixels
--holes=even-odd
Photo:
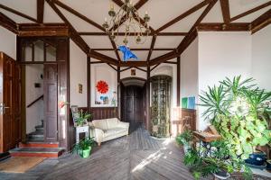
[[[147,121],[147,117],[146,117],[146,109],[147,109],[147,106],[146,106],[146,84],[147,84],[147,80],[145,78],[141,78],[141,77],[137,77],[137,76],[128,76],[128,77],[125,77],[125,78],[122,78],[119,80],[119,87],[118,87],[118,90],[119,90],[119,102],[117,103],[118,104],[118,108],[119,108],[119,112],[120,112],[120,118],[123,118],[123,112],[121,111],[121,107],[122,107],[122,90],[123,90],[123,82],[124,81],[127,81],[127,80],[140,80],[140,81],[143,81],[144,82],[144,86],[143,86],[143,89],[144,89],[144,93],[143,93],[143,103],[145,103],[145,107],[143,108],[143,117],[144,117],[144,120],[143,120],[143,124],[144,124],[144,127],[145,127],[145,130],[146,130],[146,121]],[[138,85],[137,85],[138,86]]]

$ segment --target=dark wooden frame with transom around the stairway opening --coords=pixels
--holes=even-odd
[[[59,60],[58,54],[56,61],[23,61],[23,40],[39,40],[39,39],[51,39],[55,40],[55,43],[61,43],[57,42],[57,40],[62,40],[64,44],[67,46],[67,54],[65,60]],[[62,47],[63,48],[63,47]],[[57,49],[58,51],[59,49]],[[60,58],[63,58],[61,56]],[[69,37],[19,37],[17,36],[17,59],[18,62],[21,65],[22,68],[22,141],[26,141],[26,92],[25,92],[25,65],[34,65],[34,64],[57,64],[58,65],[58,95],[57,95],[57,103],[59,104],[59,100],[61,99],[61,87],[63,84],[65,84],[66,88],[66,106],[65,106],[65,117],[60,114],[60,107],[58,105],[58,142],[59,146],[61,148],[66,148],[66,150],[69,150],[72,148],[72,144],[70,141],[72,141],[73,136],[73,122],[70,120],[70,38]],[[63,73],[64,72],[64,73]],[[61,81],[62,78],[66,78],[65,81]],[[25,108],[24,108],[25,107]],[[63,120],[66,119],[66,120]],[[63,126],[63,124],[64,126]],[[60,129],[61,127],[61,129]],[[71,128],[72,127],[72,128]]]

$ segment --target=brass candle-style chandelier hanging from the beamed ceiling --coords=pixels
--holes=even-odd
[[[102,26],[111,40],[117,41],[117,38],[122,36],[124,37],[122,41],[126,46],[129,37],[133,37],[137,44],[145,43],[147,36],[151,32],[148,25],[151,18],[147,11],[144,18],[141,19],[132,1],[125,0],[125,4],[117,12],[114,9],[114,4],[110,4],[108,14],[110,20],[107,21],[106,17]]]

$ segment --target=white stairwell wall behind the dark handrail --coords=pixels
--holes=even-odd
[[[43,65],[25,66],[26,106],[43,94],[42,74]],[[40,83],[41,87],[35,88],[34,83]],[[42,124],[42,120],[43,101],[38,101],[37,103],[34,103],[33,106],[26,108],[26,133],[35,131],[35,126]]]

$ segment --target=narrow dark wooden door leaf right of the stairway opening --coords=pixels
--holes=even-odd
[[[44,64],[44,140],[58,140],[58,65]]]

